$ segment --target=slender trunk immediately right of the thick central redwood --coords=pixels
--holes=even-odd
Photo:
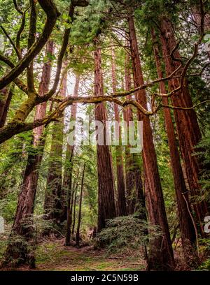
[[[112,70],[112,86],[113,93],[117,92],[117,80],[116,80],[116,55],[111,50],[111,70]],[[117,168],[117,180],[118,180],[118,214],[119,216],[125,216],[126,214],[126,200],[125,200],[125,176],[123,168],[123,149],[122,149],[122,130],[120,126],[119,108],[116,103],[113,103],[116,124],[116,133],[118,133],[119,145],[116,146],[116,168]],[[119,126],[118,126],[119,124]],[[117,130],[118,129],[118,130]]]

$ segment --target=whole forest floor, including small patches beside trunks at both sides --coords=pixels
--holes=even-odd
[[[1,240],[0,240],[1,241]],[[6,243],[0,242],[0,260],[6,249]],[[176,270],[190,270],[180,258],[180,252],[175,252],[179,261]],[[210,261],[205,258],[199,270],[210,270]],[[27,271],[145,271],[146,261],[137,251],[108,253],[104,249],[94,249],[91,245],[77,248],[73,245],[64,246],[64,239],[50,239],[38,244],[36,248],[36,268],[1,268],[1,270]]]

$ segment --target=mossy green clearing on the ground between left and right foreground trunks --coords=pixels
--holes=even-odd
[[[43,242],[36,250],[36,270],[145,270],[146,263],[140,256],[109,256],[104,250],[90,246],[65,247],[64,240]]]

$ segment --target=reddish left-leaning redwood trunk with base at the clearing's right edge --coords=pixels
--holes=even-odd
[[[132,66],[134,73],[134,87],[144,84],[143,73],[141,70],[141,61],[137,44],[137,36],[134,28],[134,19],[128,18],[130,47],[132,54]],[[147,109],[146,92],[140,90],[136,94],[137,101]],[[148,217],[151,225],[159,226],[162,236],[151,240],[150,251],[148,256],[149,270],[173,270],[174,255],[172,243],[170,240],[169,226],[165,212],[165,203],[162,195],[160,175],[158,172],[158,161],[153,143],[153,133],[148,116],[138,112],[138,119],[143,121],[143,160],[146,173],[148,188],[146,193],[148,203]]]

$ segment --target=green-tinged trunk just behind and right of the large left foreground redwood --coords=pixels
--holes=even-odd
[[[63,66],[63,80],[59,95],[66,96],[67,71],[66,63]],[[59,225],[62,221],[62,153],[64,136],[64,118],[62,122],[54,122],[52,125],[52,143],[50,149],[50,163],[45,193],[44,210],[48,219],[55,220]]]

